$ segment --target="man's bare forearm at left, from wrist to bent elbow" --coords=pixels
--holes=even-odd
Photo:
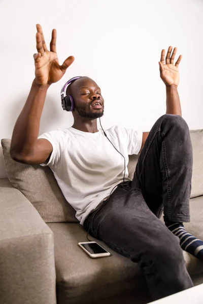
[[[39,135],[40,120],[47,89],[34,80],[26,103],[16,121],[12,140],[11,155],[29,155]]]

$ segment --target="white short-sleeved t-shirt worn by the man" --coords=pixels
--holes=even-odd
[[[130,180],[128,155],[139,153],[142,133],[117,126],[105,132],[125,157],[125,181]],[[42,166],[51,168],[65,199],[83,224],[88,214],[123,181],[123,157],[100,130],[88,133],[70,127],[46,132],[39,138],[49,140],[53,146],[49,162]]]

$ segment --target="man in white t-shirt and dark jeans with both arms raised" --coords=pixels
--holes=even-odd
[[[203,242],[183,226],[183,221],[189,221],[192,147],[177,91],[182,56],[174,65],[177,49],[172,52],[169,47],[164,64],[165,51],[161,52],[166,115],[150,133],[119,127],[99,131],[96,118],[103,115],[104,99],[97,84],[82,77],[67,87],[75,105],[73,126],[38,138],[47,90],[61,79],[74,57],[59,65],[56,30],[50,52],[40,25],[36,40],[36,77],[14,127],[12,158],[50,166],[85,229],[140,264],[153,299],[192,287],[181,247],[203,259]],[[128,155],[139,152],[131,181],[124,165]],[[158,219],[162,206],[165,225]]]

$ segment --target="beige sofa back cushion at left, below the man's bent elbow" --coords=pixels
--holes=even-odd
[[[2,139],[5,167],[12,185],[35,206],[45,222],[78,222],[48,167],[28,166],[10,157],[10,139]]]

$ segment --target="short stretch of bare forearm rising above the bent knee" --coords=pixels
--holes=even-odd
[[[176,114],[182,116],[177,86],[166,86],[166,114]]]

